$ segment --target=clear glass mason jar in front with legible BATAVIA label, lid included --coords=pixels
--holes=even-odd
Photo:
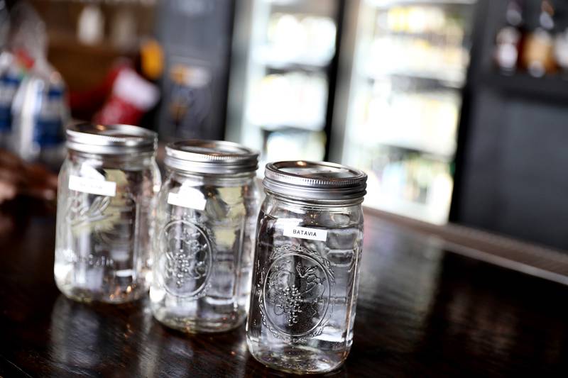
[[[249,351],[285,372],[329,372],[353,340],[366,174],[327,162],[275,162],[263,185]]]

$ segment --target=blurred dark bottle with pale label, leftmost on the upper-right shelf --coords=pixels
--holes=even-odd
[[[523,1],[510,0],[505,13],[506,24],[496,36],[495,63],[503,74],[517,70],[523,40]]]

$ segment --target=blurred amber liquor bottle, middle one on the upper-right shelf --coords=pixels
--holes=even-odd
[[[540,3],[540,14],[534,30],[528,33],[523,46],[523,66],[534,77],[555,72],[554,40],[555,9],[548,0]]]

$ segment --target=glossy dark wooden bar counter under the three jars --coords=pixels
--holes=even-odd
[[[65,299],[53,282],[53,211],[21,203],[1,214],[1,376],[284,376],[253,360],[244,326],[183,335],[153,321],[146,301]],[[568,287],[444,245],[366,217],[354,345],[327,375],[568,377]]]

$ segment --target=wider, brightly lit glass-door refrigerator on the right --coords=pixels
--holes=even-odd
[[[475,1],[348,3],[330,159],[367,172],[366,206],[445,223]]]

